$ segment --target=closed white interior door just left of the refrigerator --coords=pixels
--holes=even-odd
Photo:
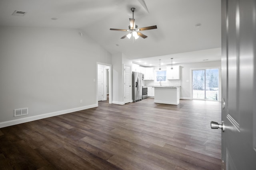
[[[131,102],[131,67],[124,65],[124,103]]]

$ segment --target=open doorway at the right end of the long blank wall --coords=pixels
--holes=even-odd
[[[108,100],[112,104],[111,70],[111,64],[97,63],[97,103]]]

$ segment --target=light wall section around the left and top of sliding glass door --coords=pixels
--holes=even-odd
[[[190,99],[192,96],[190,95],[190,69],[191,68],[207,68],[207,67],[220,67],[221,61],[209,61],[209,62],[201,62],[201,63],[187,63],[180,64],[180,80],[181,80],[181,89],[180,89],[180,98]],[[188,82],[187,82],[188,80]]]

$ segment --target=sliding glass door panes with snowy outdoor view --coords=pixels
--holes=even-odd
[[[219,101],[219,69],[192,70],[193,99]]]

